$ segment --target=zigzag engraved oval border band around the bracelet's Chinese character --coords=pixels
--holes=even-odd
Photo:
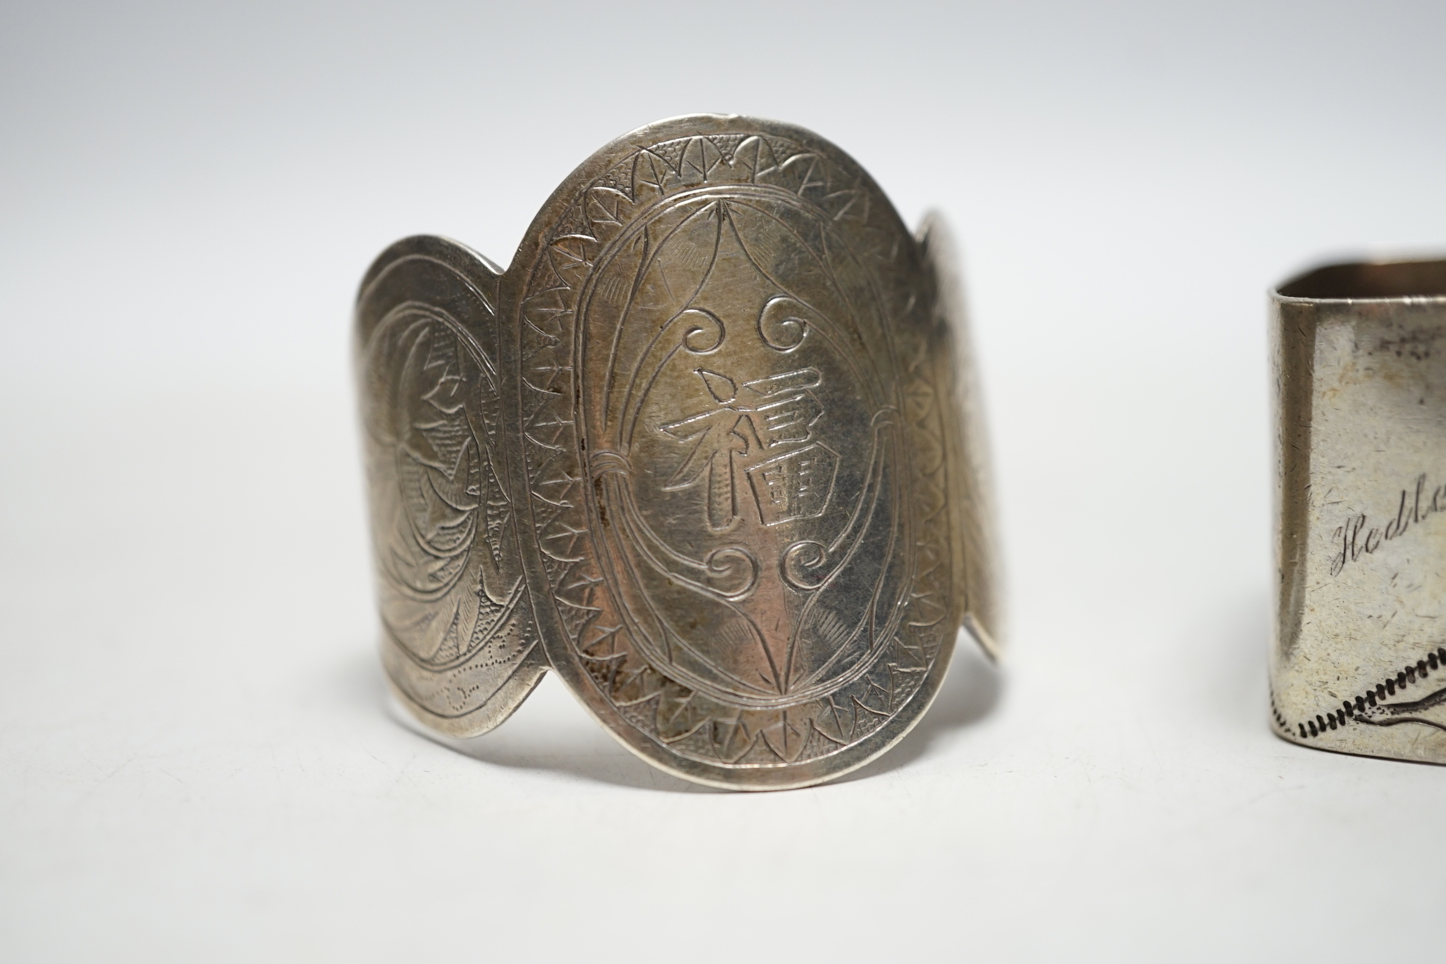
[[[946,642],[936,626],[947,616],[951,591],[949,533],[947,526],[927,525],[943,512],[947,493],[940,392],[921,377],[928,371],[928,344],[920,305],[914,298],[904,304],[897,291],[881,292],[892,321],[920,315],[917,324],[898,324],[894,337],[905,360],[901,367],[907,369],[899,373],[904,377],[899,387],[908,396],[908,486],[912,499],[928,507],[915,516],[918,569],[908,610],[886,652],[856,684],[787,710],[739,710],[672,682],[632,652],[620,639],[622,626],[599,624],[603,607],[596,594],[602,574],[586,552],[578,552],[578,539],[587,538],[587,519],[577,487],[587,473],[577,462],[571,296],[606,238],[630,221],[636,210],[687,188],[719,184],[710,179],[719,165],[733,175],[724,182],[787,191],[834,221],[862,221],[859,234],[865,244],[856,254],[866,263],[895,262],[899,243],[911,240],[902,225],[873,224],[881,215],[891,218],[892,211],[886,205],[873,210],[870,188],[862,176],[839,179],[827,159],[784,137],[696,134],[636,149],[578,192],[552,225],[532,266],[521,306],[523,467],[552,597],[573,652],[604,698],[642,733],[684,756],[743,766],[797,763],[843,750],[884,726],[918,692]],[[737,165],[746,168],[746,181],[737,179]],[[881,275],[886,276],[888,269]],[[940,458],[931,467],[921,467],[918,462],[928,451],[940,452]]]

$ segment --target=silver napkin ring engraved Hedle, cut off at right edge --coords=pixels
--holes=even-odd
[[[1446,763],[1446,260],[1274,292],[1275,730]]]

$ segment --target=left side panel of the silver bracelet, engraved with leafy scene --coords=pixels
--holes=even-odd
[[[506,720],[547,668],[502,464],[499,276],[412,237],[376,259],[356,309],[382,659],[403,704],[460,737]]]

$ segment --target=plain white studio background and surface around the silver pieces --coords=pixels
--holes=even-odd
[[[1446,249],[1439,3],[0,7],[0,957],[1432,960],[1446,772],[1267,728],[1265,291]],[[964,253],[1009,577],[855,778],[656,775],[554,679],[388,710],[348,309],[739,111]],[[1433,869],[1434,867],[1434,869]]]

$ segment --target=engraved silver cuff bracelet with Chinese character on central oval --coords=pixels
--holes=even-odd
[[[797,127],[693,116],[603,147],[544,205],[496,289],[458,256],[480,295],[455,311],[473,321],[427,321],[487,328],[483,302],[502,319],[467,354],[482,361],[458,369],[479,416],[457,436],[477,441],[483,468],[506,467],[509,497],[505,535],[480,552],[493,529],[460,515],[474,500],[442,496],[432,525],[445,517],[455,545],[432,538],[425,565],[451,578],[442,559],[470,533],[493,565],[479,569],[479,611],[513,606],[523,640],[532,613],[551,666],[665,770],[769,789],[862,766],[928,707],[960,626],[993,653],[983,439],[947,247],[937,223],[911,236],[847,155]],[[405,321],[408,299],[440,296],[415,277],[373,311],[401,312],[372,322],[396,334],[367,334],[363,312],[383,373],[363,395],[386,413],[440,392],[412,374],[434,369],[401,360],[422,353],[403,334],[421,324]],[[398,533],[412,551],[418,532],[388,503],[386,467],[409,464],[393,452],[415,458],[395,423],[367,418],[385,429],[372,429],[372,484],[389,652],[414,672],[437,659],[422,650],[442,652],[428,620],[455,608],[480,636],[493,623],[415,578],[389,588]],[[450,465],[431,468],[434,489],[461,491],[455,457],[421,461]],[[512,591],[518,572],[526,600],[490,591],[489,574]],[[405,619],[429,627],[427,646],[402,637]],[[526,694],[536,663],[518,659],[479,663],[497,687],[476,713],[500,720]]]

